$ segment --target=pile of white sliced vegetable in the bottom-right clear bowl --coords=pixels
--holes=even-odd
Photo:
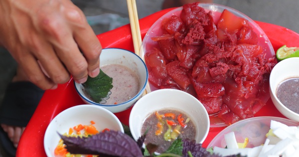
[[[234,132],[224,135],[227,149],[214,147],[214,153],[221,156],[241,154],[247,157],[299,157],[299,126],[289,127],[271,121],[271,131],[262,146],[238,149]]]

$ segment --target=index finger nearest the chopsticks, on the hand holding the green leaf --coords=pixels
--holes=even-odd
[[[80,10],[78,10],[78,14],[74,14],[71,11],[67,12],[66,18],[69,19],[73,25],[74,39],[87,60],[88,75],[90,77],[96,77],[100,72],[99,56],[102,51],[100,41]]]

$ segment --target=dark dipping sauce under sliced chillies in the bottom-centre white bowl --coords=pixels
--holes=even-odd
[[[158,120],[157,115],[162,117],[161,120]],[[170,115],[172,115],[172,117]],[[175,115],[175,116],[173,116],[173,115]],[[179,124],[178,119],[180,119],[180,118],[178,118],[178,117],[183,119],[181,122],[183,122],[183,124],[185,125],[184,128]],[[171,139],[171,138],[170,138],[170,141],[166,141],[164,139],[164,134],[167,132],[167,130],[169,129],[169,126],[170,126],[170,125],[169,126],[167,125],[166,120],[176,123],[176,125],[171,126],[171,130],[172,130],[172,132],[176,132],[176,130],[175,130],[176,127],[179,128],[180,134],[177,134],[178,138],[189,139],[189,140],[195,139],[196,129],[195,129],[193,122],[191,121],[190,118],[187,117],[187,115],[185,115],[184,113],[181,113],[179,111],[172,110],[172,109],[158,110],[149,115],[149,117],[145,120],[142,130],[141,130],[142,135],[144,135],[145,132],[148,131],[146,134],[146,139],[145,139],[146,145],[150,143],[150,144],[159,146],[157,151],[155,151],[155,152],[157,152],[157,153],[165,152],[171,146],[172,142],[175,141],[175,139]],[[159,133],[159,131],[161,131],[158,128],[159,122],[163,123],[163,125],[162,125],[163,129],[162,129],[162,132],[160,135],[156,135],[156,132]],[[168,124],[171,124],[171,123],[168,123]]]

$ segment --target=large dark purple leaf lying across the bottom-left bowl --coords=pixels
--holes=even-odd
[[[71,154],[91,154],[101,157],[143,157],[130,136],[120,131],[106,131],[87,138],[60,135],[66,149]]]

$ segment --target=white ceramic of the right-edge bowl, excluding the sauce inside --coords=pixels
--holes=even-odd
[[[278,62],[270,74],[270,96],[275,107],[287,118],[299,122],[299,114],[288,109],[277,98],[277,88],[288,78],[299,77],[299,57],[287,58]]]

